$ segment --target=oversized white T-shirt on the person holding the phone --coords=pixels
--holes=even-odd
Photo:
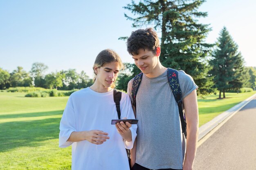
[[[121,119],[135,119],[130,98],[122,93]],[[130,128],[132,141],[127,142],[117,132],[111,119],[118,119],[113,90],[97,93],[84,88],[72,93],[67,101],[60,123],[59,147],[72,144],[72,170],[129,170],[126,149],[133,147],[137,125]],[[89,141],[69,142],[72,132],[102,130],[110,139],[100,145]]]

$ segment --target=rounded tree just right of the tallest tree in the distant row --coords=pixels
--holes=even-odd
[[[45,82],[48,88],[56,88],[62,87],[63,82],[62,80],[65,78],[65,74],[62,74],[61,72],[56,73],[50,73],[45,76]]]

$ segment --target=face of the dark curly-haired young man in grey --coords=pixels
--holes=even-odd
[[[138,55],[132,56],[135,65],[146,75],[152,73],[155,66],[159,63],[159,55],[157,56],[147,49],[139,49],[138,53]]]

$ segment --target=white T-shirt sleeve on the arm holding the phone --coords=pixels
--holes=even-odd
[[[121,104],[121,119],[124,117],[127,117],[127,119],[135,119],[133,110],[132,110],[132,105],[130,102],[130,97],[122,93],[122,101],[120,102]],[[126,149],[132,149],[135,138],[137,137],[137,124],[132,124],[130,127],[131,133],[132,133],[132,141],[124,141],[124,146]]]

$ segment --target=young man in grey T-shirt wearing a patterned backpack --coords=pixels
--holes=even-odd
[[[185,138],[167,68],[159,61],[157,33],[152,28],[133,31],[127,40],[127,51],[143,73],[136,95],[135,116],[139,122],[137,144],[135,141],[131,150],[132,170],[192,170],[198,139],[198,86],[190,75],[178,71],[187,122]],[[133,79],[127,92],[133,102],[132,83]]]

